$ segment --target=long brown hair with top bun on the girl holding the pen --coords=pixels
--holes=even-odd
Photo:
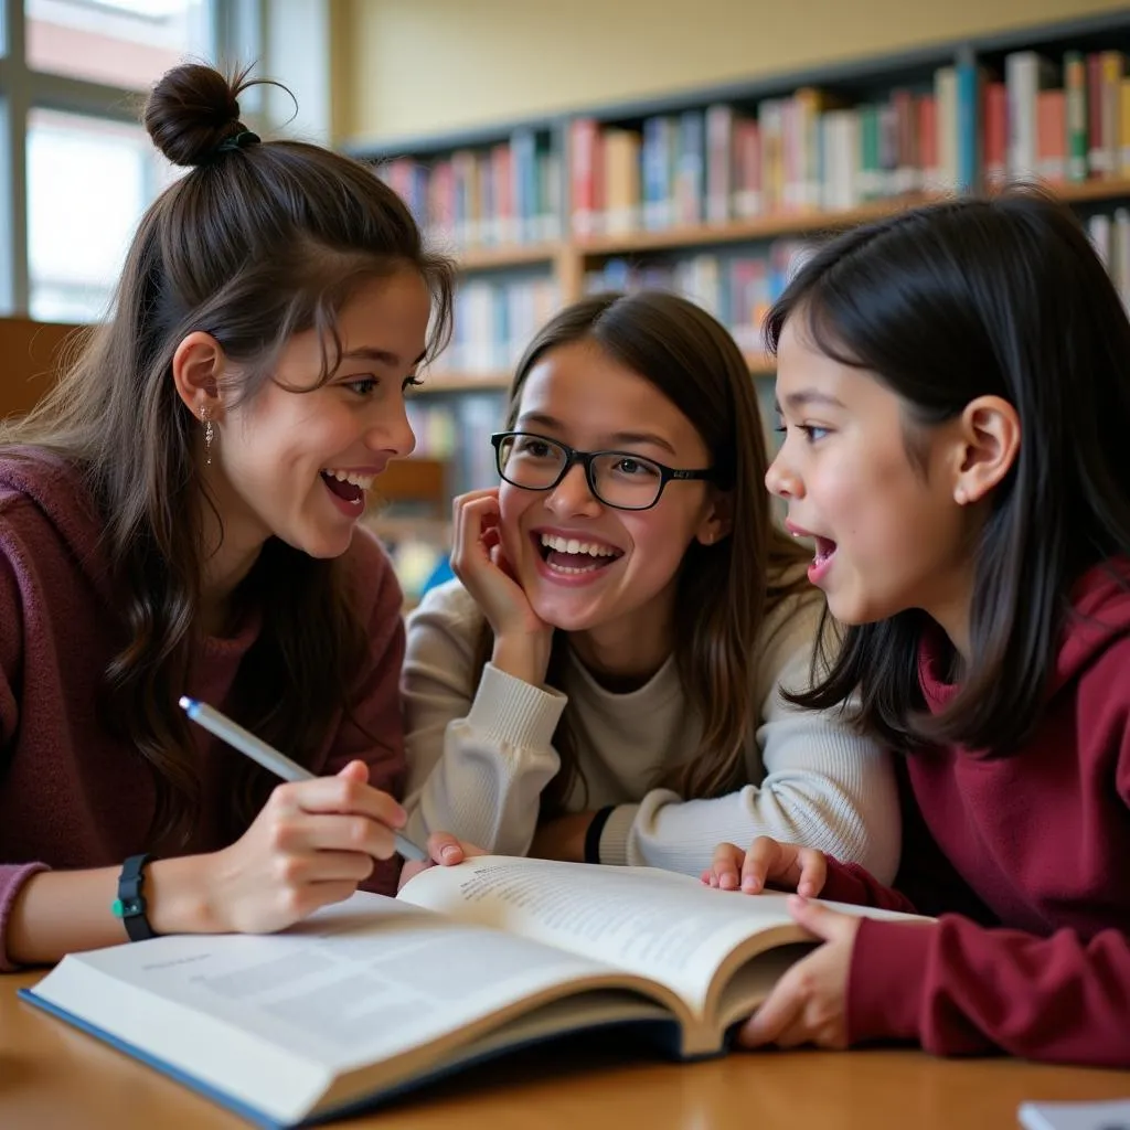
[[[157,84],[146,128],[166,157],[193,167],[142,218],[106,323],[45,400],[2,435],[5,444],[72,462],[105,520],[124,618],[122,646],[105,672],[105,716],[153,772],[154,842],[186,841],[200,791],[192,737],[175,704],[201,634],[200,514],[209,502],[195,466],[200,425],[172,376],[179,342],[194,330],[216,339],[234,363],[225,392],[236,401],[271,380],[292,334],[314,329],[324,381],[340,353],[336,313],[358,284],[405,266],[433,295],[429,351],[450,333],[452,267],[424,250],[401,200],[370,169],[327,149],[246,137],[238,96],[251,85],[246,72],[228,79],[202,66],[177,67]],[[365,626],[355,594],[338,562],[269,539],[232,600],[237,615],[263,612],[233,690],[234,713],[307,759],[348,710],[362,670]],[[262,775],[250,763],[246,770],[229,832],[245,826],[261,800]]]

